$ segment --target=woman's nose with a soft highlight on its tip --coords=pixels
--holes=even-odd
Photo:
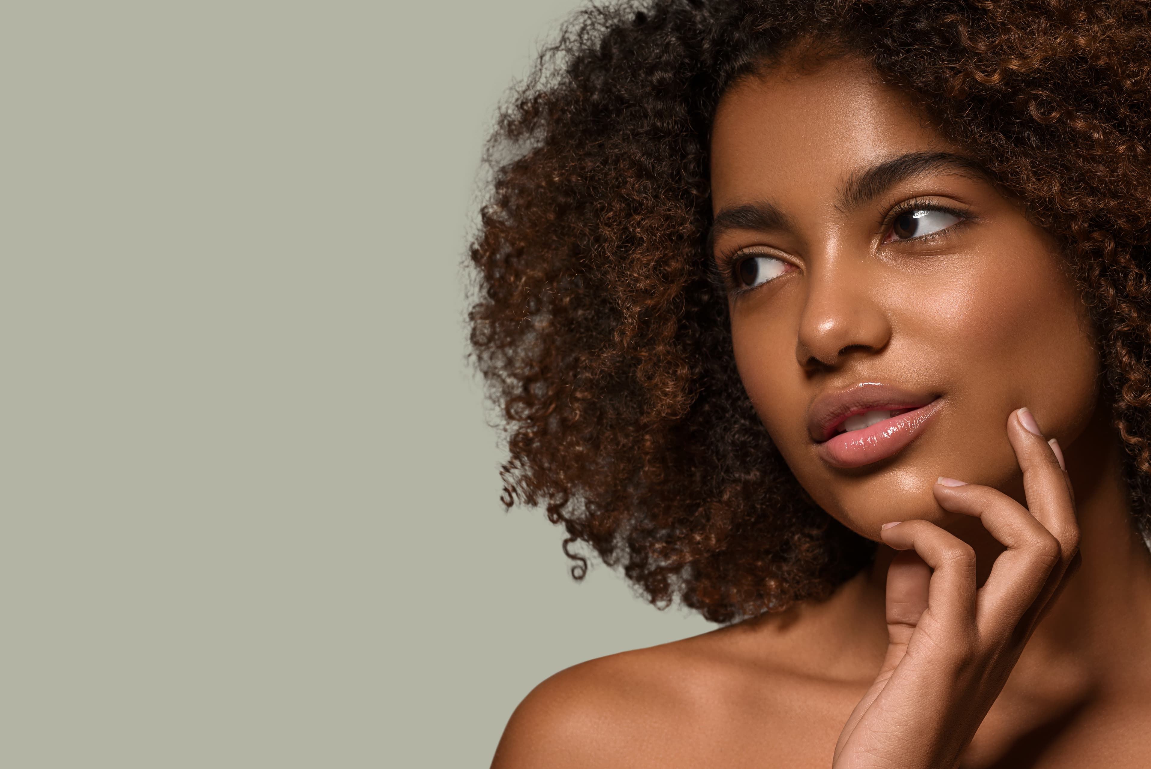
[[[807,371],[837,368],[891,341],[891,321],[878,302],[872,271],[849,257],[818,260],[808,273],[795,360]]]

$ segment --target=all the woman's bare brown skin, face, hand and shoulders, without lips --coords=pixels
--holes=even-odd
[[[874,173],[939,153],[962,155],[852,59],[724,96],[717,221],[773,214],[715,234],[740,375],[803,487],[879,555],[825,601],[557,673],[493,767],[1146,766],[1151,556],[1087,313],[970,167]],[[902,237],[908,205],[962,215]],[[772,277],[740,284],[747,258]],[[939,408],[897,455],[834,467],[808,406],[861,382]]]

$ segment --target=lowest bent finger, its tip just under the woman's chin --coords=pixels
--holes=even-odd
[[[915,550],[931,566],[928,608],[944,622],[975,620],[975,550],[927,520],[885,524],[883,541],[897,550]]]

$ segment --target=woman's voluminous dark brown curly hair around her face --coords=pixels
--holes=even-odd
[[[546,505],[656,606],[731,622],[828,595],[874,545],[820,510],[731,352],[706,249],[711,117],[831,41],[916,97],[1062,245],[1099,335],[1136,525],[1151,494],[1144,2],[649,0],[580,12],[501,111],[471,248],[504,503]]]

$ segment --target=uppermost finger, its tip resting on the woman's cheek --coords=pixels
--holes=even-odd
[[[1007,437],[1023,471],[1027,508],[1059,540],[1062,559],[1069,562],[1078,548],[1078,525],[1059,458],[1028,409],[1017,409],[1007,418]]]

